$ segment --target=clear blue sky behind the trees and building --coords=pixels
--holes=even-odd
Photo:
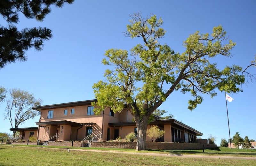
[[[142,11],[162,17],[167,31],[160,42],[167,43],[175,52],[182,53],[182,46],[189,34],[199,30],[211,34],[213,26],[221,25],[229,39],[236,42],[233,58],[212,59],[221,68],[238,64],[245,68],[256,53],[256,1],[79,1],[64,8],[52,8],[43,22],[20,16],[17,25],[25,27],[43,26],[52,29],[53,38],[46,41],[41,52],[27,52],[26,62],[8,64],[0,70],[0,85],[5,88],[20,88],[44,100],[43,105],[94,99],[93,83],[104,80],[107,66],[101,64],[107,49],[127,49],[142,43],[141,39],[124,37],[121,32],[129,24],[129,14]],[[7,23],[0,18],[1,25]],[[250,72],[256,73],[256,68]],[[242,86],[244,92],[229,94],[234,98],[228,102],[231,137],[239,132],[244,138],[256,140],[255,92],[256,82]],[[192,112],[187,109],[190,94],[172,93],[160,109],[165,109],[184,124],[202,132],[228,139],[228,122],[225,94],[218,92],[213,99],[203,95],[204,101]],[[5,103],[0,105],[4,113]],[[2,114],[1,114],[2,115]],[[26,121],[19,127],[36,126],[39,117]],[[0,132],[10,132],[11,124],[0,116]]]

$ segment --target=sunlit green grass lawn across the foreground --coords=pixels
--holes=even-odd
[[[85,148],[88,149],[88,148]],[[94,148],[95,149],[95,148]],[[115,149],[112,149],[115,150]],[[120,149],[119,149],[120,150]],[[220,148],[224,152],[225,149]],[[241,150],[241,149],[240,149]],[[242,149],[245,150],[245,149]],[[124,151],[132,152],[132,149]],[[207,150],[208,151],[208,150]],[[212,152],[210,152],[212,151]],[[209,153],[214,153],[216,150],[209,150]],[[228,150],[227,150],[228,151]],[[144,151],[145,152],[145,151]],[[147,151],[158,153],[159,151]],[[164,151],[160,151],[163,153]],[[172,151],[176,154],[185,153],[185,151]],[[196,151],[192,151],[196,154]],[[208,152],[207,152],[208,153]],[[255,151],[245,151],[234,153],[253,153]],[[243,155],[242,155],[243,156]],[[60,148],[38,148],[24,146],[0,146],[0,165],[256,165],[256,160],[239,160],[239,159],[198,159],[198,158],[182,158],[182,157],[167,157],[150,155],[133,155],[133,154],[116,154],[103,152],[89,151],[70,151]]]

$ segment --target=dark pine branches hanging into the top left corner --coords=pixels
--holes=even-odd
[[[16,60],[26,61],[25,51],[35,48],[42,50],[43,42],[52,38],[52,31],[46,27],[33,27],[18,30],[13,23],[19,22],[21,12],[28,19],[43,21],[51,12],[51,5],[63,7],[74,0],[1,0],[0,14],[9,23],[7,27],[0,26],[0,69]]]

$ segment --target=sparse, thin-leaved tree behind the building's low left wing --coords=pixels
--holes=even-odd
[[[10,98],[6,100],[7,106],[4,112],[4,119],[9,119],[12,128],[18,128],[26,120],[39,115],[32,107],[40,106],[42,99],[36,99],[34,94],[27,91],[13,88],[9,91]],[[13,136],[15,135],[13,131]]]

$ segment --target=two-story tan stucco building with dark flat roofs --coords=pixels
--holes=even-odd
[[[22,139],[28,140],[29,136],[36,135],[37,140],[83,140],[86,136],[94,133],[99,135],[99,140],[114,140],[119,136],[124,138],[130,132],[137,132],[135,122],[128,110],[114,113],[110,108],[105,108],[100,115],[94,115],[92,102],[87,100],[53,105],[33,107],[41,113],[38,127],[12,128],[19,131]],[[196,136],[203,133],[183,124],[175,119],[155,120],[148,125],[158,125],[165,131],[164,137],[159,141],[194,143]],[[147,136],[147,141],[151,139]]]

